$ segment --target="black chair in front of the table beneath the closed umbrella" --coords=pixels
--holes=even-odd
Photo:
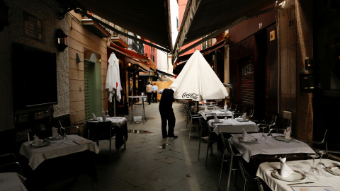
[[[86,122],[86,126],[89,132],[89,140],[96,141],[99,146],[99,141],[108,140],[110,141],[110,160],[111,160],[111,140],[115,137],[115,126],[112,125],[111,121],[107,122]],[[120,151],[118,149],[118,154]]]

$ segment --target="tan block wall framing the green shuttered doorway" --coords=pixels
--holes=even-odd
[[[81,21],[81,16],[73,11],[72,16]],[[84,49],[101,54],[101,91],[103,110],[108,108],[108,93],[105,91],[107,73],[107,46],[106,42],[97,35],[86,30],[79,22],[67,16],[69,28],[69,110],[72,123],[85,120],[85,93],[84,93]],[[71,28],[72,26],[72,28]],[[81,61],[77,64],[76,54]]]

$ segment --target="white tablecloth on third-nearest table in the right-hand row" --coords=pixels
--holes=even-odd
[[[242,129],[246,132],[259,132],[259,127],[257,127],[254,122],[238,122],[235,119],[223,120],[222,123],[214,123],[214,120],[209,120],[208,125],[214,128],[216,134],[221,132],[225,133],[242,133]]]

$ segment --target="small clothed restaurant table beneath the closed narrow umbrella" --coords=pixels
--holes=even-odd
[[[115,149],[120,149],[120,146],[123,146],[126,149],[126,141],[128,140],[128,125],[127,119],[125,117],[106,117],[107,121],[111,121],[113,126],[119,127],[115,132]],[[103,117],[97,117],[97,120],[89,120],[89,122],[102,122]],[[89,131],[86,127],[86,123],[83,125],[84,129],[84,137],[89,138]]]

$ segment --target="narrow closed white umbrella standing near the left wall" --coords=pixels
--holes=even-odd
[[[108,73],[106,74],[105,88],[109,92],[108,101],[112,102],[113,100],[113,110],[115,113],[115,99],[113,99],[113,96],[115,95],[116,99],[120,101],[122,98],[120,91],[122,91],[123,88],[120,83],[118,59],[113,52],[108,59]]]

